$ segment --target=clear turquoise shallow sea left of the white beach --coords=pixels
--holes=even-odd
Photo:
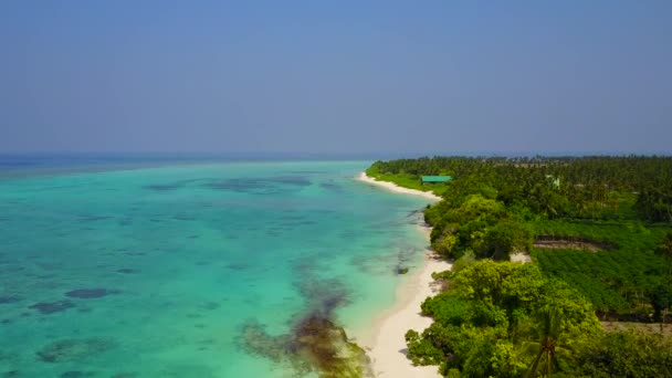
[[[426,248],[427,200],[355,180],[369,161],[69,164],[0,175],[0,376],[292,376],[246,325],[361,334]]]

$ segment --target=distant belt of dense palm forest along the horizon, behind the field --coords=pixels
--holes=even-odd
[[[448,175],[432,188],[451,201],[485,191],[548,219],[672,222],[672,157],[434,157],[376,161],[367,175],[414,189]]]

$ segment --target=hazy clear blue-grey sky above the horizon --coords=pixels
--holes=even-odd
[[[0,1],[1,153],[672,154],[672,1]]]

